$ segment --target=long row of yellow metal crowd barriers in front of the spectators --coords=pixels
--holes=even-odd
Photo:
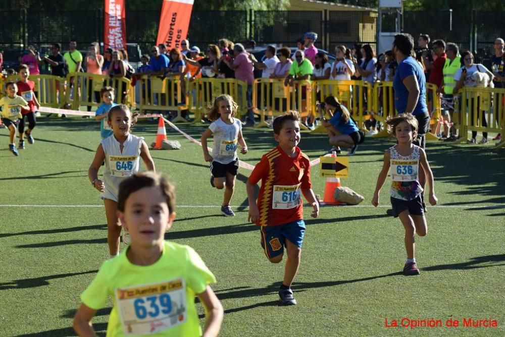
[[[115,101],[132,105],[140,113],[155,111],[176,111],[174,122],[186,122],[183,113],[193,113],[194,123],[201,123],[206,109],[221,94],[229,94],[238,104],[237,118],[248,109],[247,84],[236,79],[200,78],[181,82],[179,76],[155,77],[137,75],[135,90],[129,79],[88,73],[73,73],[61,78],[53,75],[31,75],[35,82],[35,93],[42,106],[70,106],[78,110],[82,106],[98,106],[101,102],[99,90],[106,86],[116,89]],[[7,81],[19,80],[17,75],[0,79],[4,88]],[[77,89],[77,90],[76,90]],[[452,123],[466,140],[468,131],[505,134],[504,104],[505,89],[464,87],[455,96],[455,109]],[[0,97],[5,95],[2,90]],[[282,115],[286,110],[296,109],[302,118],[313,119],[317,114],[316,102],[333,95],[350,111],[352,118],[364,129],[368,119],[385,123],[396,115],[392,82],[376,82],[371,85],[364,81],[299,81],[292,86],[284,86],[282,79],[255,79],[252,85],[252,108],[260,116],[257,127],[267,126],[267,119]],[[438,130],[442,123],[442,105],[437,94],[437,86],[427,84],[427,96],[432,97],[432,129]],[[458,99],[458,97],[460,97]],[[463,97],[463,98],[461,98]],[[483,123],[483,121],[487,122]],[[302,126],[305,128],[304,126]],[[319,127],[313,132],[326,132]],[[386,128],[372,137],[388,137]],[[432,133],[427,139],[437,139]],[[498,144],[503,147],[503,142]]]

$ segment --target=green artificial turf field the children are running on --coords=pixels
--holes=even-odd
[[[134,133],[150,143],[157,127],[141,121]],[[197,139],[206,127],[180,125]],[[240,168],[237,177],[237,216],[224,217],[222,191],[209,184],[201,148],[167,132],[182,149],[151,151],[157,171],[176,185],[177,219],[166,238],[193,247],[216,275],[212,287],[225,309],[221,335],[505,334],[505,150],[427,144],[439,206],[429,207],[428,235],[417,239],[421,275],[406,277],[399,273],[406,257],[401,223],[385,215],[389,181],[380,206],[370,204],[383,151],[393,142],[367,138],[349,158],[350,177],[341,181],[365,201],[323,207],[317,219],[305,208],[307,233],[293,285],[298,305],[282,307],[277,290],[284,264],[268,262],[258,228],[247,221],[249,171]],[[243,134],[249,152],[240,158],[248,163],[275,146],[269,129]],[[0,336],[74,335],[79,295],[108,257],[105,210],[87,178],[98,123],[41,117],[33,135],[35,144],[14,157],[7,130],[0,129]],[[300,147],[315,159],[328,149],[326,138],[304,132]],[[311,177],[323,195],[319,167]],[[111,305],[93,320],[98,334],[105,334]],[[400,325],[402,318],[440,319],[444,326],[386,326],[386,319]],[[464,318],[496,319],[498,327],[464,327]],[[460,326],[446,327],[448,319]]]

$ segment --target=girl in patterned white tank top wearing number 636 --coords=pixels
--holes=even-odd
[[[394,217],[399,217],[405,229],[405,249],[407,261],[403,266],[405,275],[418,275],[415,253],[414,235],[423,237],[428,232],[428,224],[424,216],[421,194],[423,189],[419,184],[419,170],[426,174],[430,188],[430,204],[436,205],[437,197],[433,189],[433,173],[422,148],[412,144],[417,136],[418,122],[412,114],[400,114],[388,120],[388,129],[398,141],[398,144],[384,152],[384,164],[377,178],[377,186],[372,198],[372,205],[379,205],[379,191],[386,181],[391,168],[390,200]]]

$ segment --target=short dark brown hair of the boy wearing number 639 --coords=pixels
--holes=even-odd
[[[172,214],[175,210],[175,189],[174,186],[162,175],[153,171],[135,173],[131,177],[123,180],[119,184],[118,210],[125,211],[126,200],[130,194],[143,189],[144,187],[160,187],[165,201],[168,205],[168,212]]]

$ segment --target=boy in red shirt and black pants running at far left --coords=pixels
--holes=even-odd
[[[19,120],[19,148],[25,148],[25,140],[24,136],[28,138],[28,143],[33,144],[35,140],[31,135],[33,128],[35,128],[35,124],[37,120],[35,118],[35,111],[40,108],[40,104],[38,103],[37,97],[33,93],[33,89],[35,88],[35,83],[33,81],[28,80],[28,76],[30,76],[30,70],[27,65],[19,66],[19,78],[18,83],[18,92],[17,94],[23,97],[28,102],[29,110],[21,109],[21,115],[23,118]],[[25,118],[28,119],[28,129],[25,131]]]

